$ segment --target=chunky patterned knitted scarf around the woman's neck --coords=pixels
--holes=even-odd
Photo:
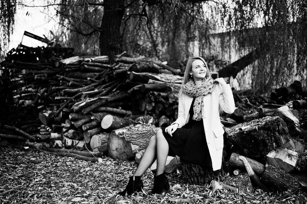
[[[182,91],[188,96],[195,98],[193,120],[200,121],[204,117],[204,96],[214,91],[217,83],[207,77],[201,83],[196,84],[193,80],[189,80],[183,85]]]

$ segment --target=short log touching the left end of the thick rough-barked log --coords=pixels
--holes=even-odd
[[[103,154],[107,153],[108,148],[108,133],[100,133],[93,135],[90,141],[90,146],[93,152],[101,152]]]

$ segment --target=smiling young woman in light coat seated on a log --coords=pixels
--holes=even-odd
[[[219,170],[224,146],[219,107],[226,113],[233,113],[230,85],[223,78],[213,80],[203,58],[191,58],[179,91],[177,120],[151,137],[137,169],[129,177],[126,189],[119,194],[124,196],[141,191],[141,176],[155,159],[157,169],[151,193],[161,194],[163,190],[169,190],[168,179],[163,173],[168,155],[210,166],[213,171]]]

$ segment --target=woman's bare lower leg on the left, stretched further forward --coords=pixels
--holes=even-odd
[[[153,164],[156,154],[156,136],[152,136],[149,144],[142,156],[142,159],[136,168],[133,176],[142,176],[146,170]]]

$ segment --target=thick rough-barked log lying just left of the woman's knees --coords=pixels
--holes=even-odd
[[[108,155],[113,159],[133,159],[136,152],[145,149],[158,128],[137,124],[114,130],[108,138]]]

